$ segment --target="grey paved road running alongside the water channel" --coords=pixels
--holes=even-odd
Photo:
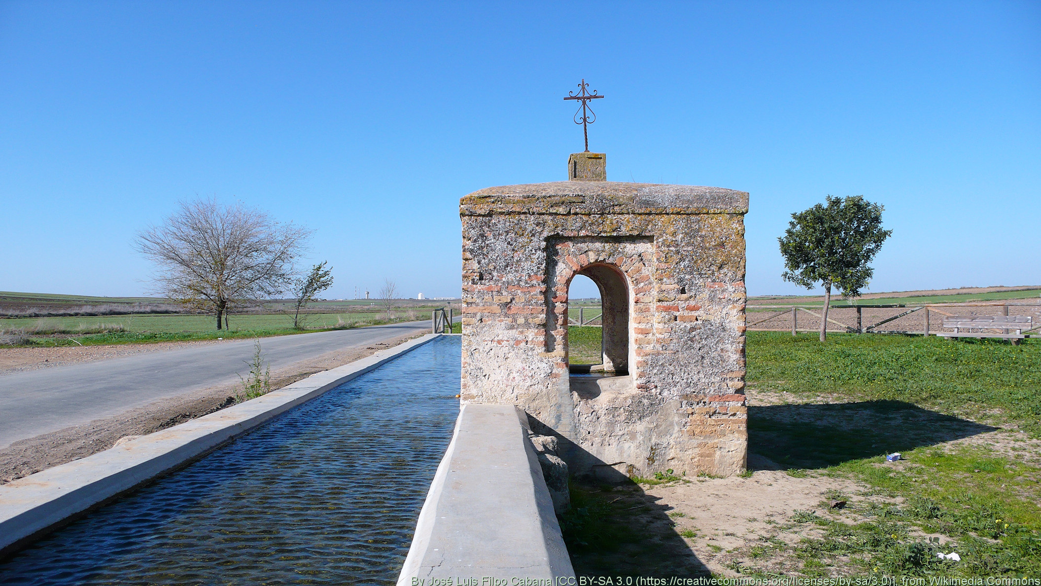
[[[319,355],[430,331],[430,320],[264,338],[272,370]],[[238,382],[253,340],[148,352],[0,376],[0,448],[156,399]]]

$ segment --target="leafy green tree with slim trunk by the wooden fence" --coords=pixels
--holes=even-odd
[[[832,286],[843,297],[857,297],[874,274],[868,263],[893,234],[882,228],[883,210],[860,195],[845,199],[829,195],[826,205],[817,203],[792,214],[784,237],[778,239],[787,269],[781,276],[807,289],[818,283],[824,287],[821,342],[827,336]]]

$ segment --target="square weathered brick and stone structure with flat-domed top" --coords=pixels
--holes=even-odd
[[[519,406],[578,475],[736,473],[748,194],[595,180],[605,161],[462,198],[462,400]],[[577,274],[601,290],[610,376],[570,373]]]

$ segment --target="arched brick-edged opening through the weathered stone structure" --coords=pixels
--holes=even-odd
[[[629,374],[629,298],[626,276],[614,266],[589,265],[572,278],[567,293],[567,358],[572,373]]]

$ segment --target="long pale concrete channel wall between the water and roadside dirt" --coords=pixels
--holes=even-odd
[[[273,417],[439,338],[421,338],[277,391],[0,486],[0,558]]]

